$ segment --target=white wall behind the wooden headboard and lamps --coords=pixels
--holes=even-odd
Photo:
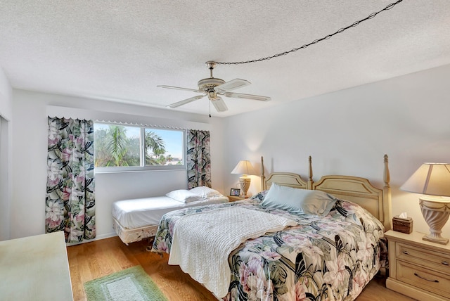
[[[224,186],[238,187],[238,175],[226,172],[238,160],[251,160],[259,168],[261,155],[268,173],[290,171],[307,179],[311,155],[315,181],[348,174],[381,187],[387,153],[392,214],[407,212],[414,230],[428,233],[419,195],[399,186],[423,162],[450,162],[449,79],[450,65],[445,65],[229,117],[224,121]],[[253,177],[250,191],[259,191],[259,177]],[[443,236],[450,237],[450,222]]]

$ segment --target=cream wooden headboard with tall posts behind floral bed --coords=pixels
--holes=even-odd
[[[299,174],[292,172],[273,172],[266,179],[264,176],[264,159],[261,157],[261,187],[269,189],[272,183],[301,189],[320,190],[333,196],[350,200],[364,207],[385,226],[385,231],[392,229],[390,173],[387,155],[384,156],[383,188],[377,188],[368,179],[361,177],[328,175],[314,183],[312,180],[311,156],[309,156],[309,177],[304,181]]]

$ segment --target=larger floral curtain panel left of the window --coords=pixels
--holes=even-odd
[[[95,238],[94,122],[49,117],[48,141],[45,231]]]

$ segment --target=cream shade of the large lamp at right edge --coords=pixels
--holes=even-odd
[[[423,163],[400,190],[430,196],[450,196],[450,164]]]

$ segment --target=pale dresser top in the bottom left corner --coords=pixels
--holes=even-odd
[[[0,241],[0,300],[73,300],[63,231]]]

